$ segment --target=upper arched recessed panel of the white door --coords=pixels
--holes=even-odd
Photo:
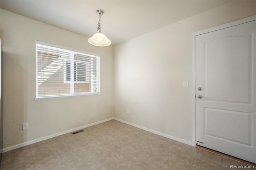
[[[206,99],[243,103],[250,101],[250,37],[252,35],[220,37],[204,44]]]

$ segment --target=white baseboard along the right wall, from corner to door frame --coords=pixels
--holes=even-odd
[[[118,118],[115,118],[115,117],[114,117],[114,120],[120,121],[120,122],[122,122],[122,123],[126,123],[126,124],[128,124],[128,125],[132,125],[133,127],[137,127],[137,128],[142,129],[142,130],[146,130],[146,131],[148,131],[148,132],[152,132],[152,133],[154,133],[154,134],[158,134],[158,135],[160,135],[160,136],[164,136],[164,137],[166,137],[166,138],[169,138],[169,139],[172,139],[172,140],[176,140],[176,141],[178,141],[178,142],[182,142],[182,143],[184,143],[184,144],[189,144],[189,145],[192,146],[192,142],[191,142],[191,141],[184,140],[184,139],[181,139],[181,138],[176,138],[176,137],[174,137],[174,136],[171,136],[171,135],[168,135],[168,134],[165,134],[165,133],[162,133],[162,132],[158,132],[158,131],[156,131],[156,130],[152,130],[152,129],[149,129],[149,128],[146,128],[146,127],[142,127],[142,126],[136,125],[136,124],[134,124],[134,123],[130,123],[130,122],[127,122],[127,121],[123,121],[122,119],[118,119]]]

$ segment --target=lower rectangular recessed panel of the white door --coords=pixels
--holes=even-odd
[[[204,113],[206,135],[249,146],[252,144],[251,113],[211,108],[205,108]]]

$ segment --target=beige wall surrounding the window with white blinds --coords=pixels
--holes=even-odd
[[[1,9],[4,148],[113,117],[113,47]],[[86,28],[85,28],[86,29]],[[101,95],[36,100],[35,40],[100,55]],[[22,123],[28,129],[22,130]]]

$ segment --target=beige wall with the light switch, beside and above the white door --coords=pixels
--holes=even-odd
[[[191,142],[192,33],[255,14],[232,1],[114,46],[115,117]]]

